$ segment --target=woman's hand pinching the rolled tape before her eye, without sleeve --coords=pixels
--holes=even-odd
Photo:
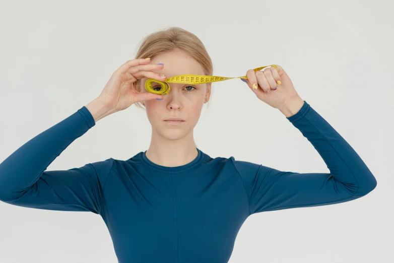
[[[160,94],[138,92],[133,85],[138,79],[143,78],[159,81],[166,79],[160,77],[159,73],[153,72],[162,70],[164,65],[150,64],[150,61],[150,59],[137,58],[125,62],[112,74],[97,100],[116,112],[139,101],[162,99],[163,95]]]

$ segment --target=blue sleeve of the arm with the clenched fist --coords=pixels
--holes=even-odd
[[[250,214],[343,203],[376,187],[375,177],[360,156],[306,101],[297,113],[288,116],[317,150],[330,173],[280,171],[231,157],[244,183]]]

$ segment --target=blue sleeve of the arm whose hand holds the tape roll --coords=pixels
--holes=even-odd
[[[17,149],[0,163],[0,201],[28,208],[99,214],[102,190],[114,159],[45,171],[94,125],[93,115],[84,106]]]

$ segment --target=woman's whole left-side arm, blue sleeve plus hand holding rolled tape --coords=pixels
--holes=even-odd
[[[162,68],[163,64],[150,64],[144,58],[126,61],[96,99],[11,154],[0,164],[0,201],[21,207],[99,214],[114,159],[65,171],[45,169],[99,119],[136,102],[161,98],[159,94],[138,92],[134,84],[144,77],[163,80],[153,72]]]

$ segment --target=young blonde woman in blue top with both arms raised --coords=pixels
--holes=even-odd
[[[171,83],[164,95],[145,89],[147,79],[163,81],[182,74],[213,75],[200,39],[177,27],[149,35],[137,58],[121,65],[96,99],[0,164],[0,200],[100,215],[120,263],[218,263],[229,260],[238,230],[251,214],[343,203],[375,188],[376,179],[362,159],[298,96],[279,65],[278,70],[247,71],[246,84],[257,99],[280,110],[300,130],[330,173],[288,172],[233,157],[211,158],[196,147],[193,128],[210,99],[212,83]],[[133,104],[145,107],[152,124],[147,151],[125,161],[109,158],[46,171],[99,119]],[[179,120],[171,121],[174,118]]]

